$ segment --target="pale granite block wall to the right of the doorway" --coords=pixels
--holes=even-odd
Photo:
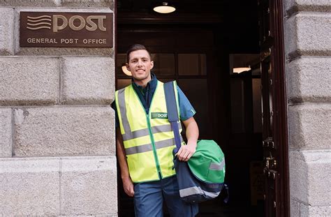
[[[331,216],[331,2],[285,0],[291,216]]]

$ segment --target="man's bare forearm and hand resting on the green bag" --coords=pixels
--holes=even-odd
[[[196,152],[196,143],[199,137],[199,128],[196,124],[196,120],[193,117],[183,121],[186,128],[186,138],[187,144],[182,145],[182,147],[177,152],[177,157],[179,160],[187,161]]]

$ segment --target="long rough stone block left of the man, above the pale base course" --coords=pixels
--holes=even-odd
[[[34,107],[14,110],[15,156],[115,155],[114,110]]]

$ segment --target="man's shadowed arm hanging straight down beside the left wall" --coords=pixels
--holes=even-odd
[[[117,151],[117,159],[119,161],[119,167],[121,170],[121,178],[123,182],[123,188],[127,195],[133,197],[135,194],[133,190],[133,182],[128,174],[128,163],[126,162],[126,154],[124,151],[123,137],[121,134],[121,130],[119,128],[116,129],[117,139],[116,139],[116,151]]]

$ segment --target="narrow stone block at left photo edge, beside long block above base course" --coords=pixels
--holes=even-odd
[[[12,112],[10,108],[0,108],[0,158],[12,154]]]

